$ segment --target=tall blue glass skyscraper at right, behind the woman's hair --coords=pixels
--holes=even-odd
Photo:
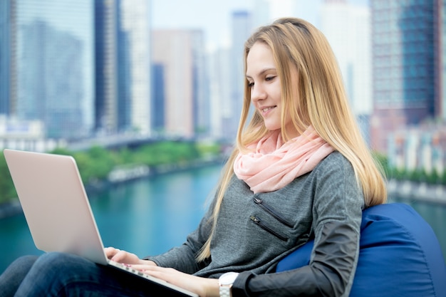
[[[434,22],[431,1],[372,1],[375,106],[417,108],[409,123],[433,115]]]

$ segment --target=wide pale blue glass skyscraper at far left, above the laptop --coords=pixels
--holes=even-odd
[[[46,136],[93,130],[93,5],[89,0],[16,0],[16,105],[20,120],[42,120]],[[15,78],[14,78],[15,79]],[[12,98],[12,97],[11,97]]]

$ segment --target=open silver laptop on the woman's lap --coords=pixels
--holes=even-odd
[[[82,256],[163,286],[177,296],[197,294],[110,261],[83,187],[76,160],[21,150],[4,150],[6,164],[37,249]]]

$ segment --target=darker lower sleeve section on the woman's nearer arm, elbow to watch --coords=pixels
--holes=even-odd
[[[281,273],[240,273],[232,295],[342,296],[356,267],[358,234],[335,222],[326,224],[323,233],[310,265]]]

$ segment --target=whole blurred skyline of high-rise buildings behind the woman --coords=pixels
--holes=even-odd
[[[232,11],[230,42],[211,51],[203,28],[152,28],[150,0],[1,0],[0,149],[232,142],[244,41],[280,3]],[[306,3],[289,16],[306,19]],[[323,0],[317,16],[370,147],[443,174],[446,1]]]

